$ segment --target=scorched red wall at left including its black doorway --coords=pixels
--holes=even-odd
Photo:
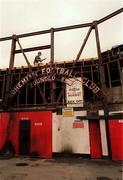
[[[15,155],[52,157],[52,112],[14,112],[8,119],[4,118],[4,122],[2,121],[2,128],[6,127],[4,131],[7,131],[9,127],[9,133],[8,137],[4,135],[0,151],[5,142],[9,141]],[[8,125],[5,125],[6,123]]]

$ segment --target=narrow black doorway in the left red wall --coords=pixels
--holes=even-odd
[[[19,154],[30,153],[30,120],[19,121]]]

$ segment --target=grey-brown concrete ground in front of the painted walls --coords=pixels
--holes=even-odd
[[[83,158],[0,159],[0,180],[122,180],[119,161]]]

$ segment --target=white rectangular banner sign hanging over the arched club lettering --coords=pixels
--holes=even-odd
[[[83,106],[83,84],[81,78],[66,79],[67,107]]]

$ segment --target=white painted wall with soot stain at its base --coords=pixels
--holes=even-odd
[[[73,128],[76,116],[83,114],[85,111],[76,111],[74,116],[63,117],[53,113],[53,152],[90,154],[88,120],[83,120],[83,128]]]

